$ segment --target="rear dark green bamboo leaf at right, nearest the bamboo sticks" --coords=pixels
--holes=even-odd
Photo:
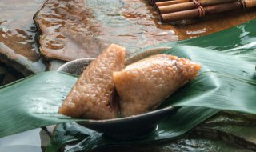
[[[246,61],[255,63],[255,24],[256,19],[214,34],[209,34],[198,38],[190,38],[178,42],[166,42],[151,47],[197,46],[205,49],[221,51],[227,54],[237,55],[247,59]],[[146,49],[148,49],[148,47]]]

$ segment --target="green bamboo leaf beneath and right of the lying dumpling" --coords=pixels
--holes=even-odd
[[[167,99],[170,106],[194,105],[256,114],[254,63],[195,46],[176,46],[165,53],[202,65],[201,74],[194,81]]]

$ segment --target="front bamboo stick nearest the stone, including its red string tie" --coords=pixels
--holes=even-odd
[[[246,9],[250,7],[256,7],[256,0],[240,0],[206,7],[198,6],[191,10],[160,14],[160,20],[162,22],[174,22],[186,18],[202,18],[208,14],[217,14],[225,11]]]

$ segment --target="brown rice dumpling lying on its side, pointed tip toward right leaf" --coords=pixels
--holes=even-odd
[[[114,72],[122,116],[153,110],[198,74],[200,66],[186,58],[158,54]]]

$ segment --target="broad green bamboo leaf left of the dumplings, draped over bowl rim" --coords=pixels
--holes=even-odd
[[[2,86],[0,138],[70,120],[56,111],[76,79],[68,74],[46,72]]]

